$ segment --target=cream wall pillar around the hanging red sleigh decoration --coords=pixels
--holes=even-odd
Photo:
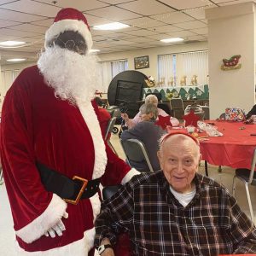
[[[248,112],[254,104],[254,4],[207,10],[211,118],[227,107]],[[241,69],[223,71],[223,59],[241,55]]]

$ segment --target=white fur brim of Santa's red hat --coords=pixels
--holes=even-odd
[[[59,20],[54,22],[49,29],[45,32],[45,43],[44,46],[47,47],[49,41],[59,35],[61,32],[73,31],[79,32],[84,38],[87,44],[87,52],[90,51],[92,47],[92,38],[90,30],[87,25],[84,24],[83,20]]]

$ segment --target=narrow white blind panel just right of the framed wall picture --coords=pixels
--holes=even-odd
[[[175,85],[173,55],[158,55],[158,82],[160,87]]]

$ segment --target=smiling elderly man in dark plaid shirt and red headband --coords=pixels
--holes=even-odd
[[[256,230],[227,189],[197,173],[194,137],[167,134],[158,153],[162,171],[133,177],[102,203],[96,247],[113,256],[116,234],[128,231],[132,255],[256,253]],[[99,247],[101,249],[102,247]]]

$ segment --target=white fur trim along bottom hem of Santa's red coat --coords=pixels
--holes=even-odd
[[[63,247],[56,247],[47,251],[40,252],[26,252],[24,249],[19,247],[17,243],[17,253],[19,256],[86,256],[90,249],[94,246],[95,229],[86,230],[84,237],[79,241],[73,241]],[[54,238],[53,238],[54,239]],[[98,254],[95,254],[98,255]]]

